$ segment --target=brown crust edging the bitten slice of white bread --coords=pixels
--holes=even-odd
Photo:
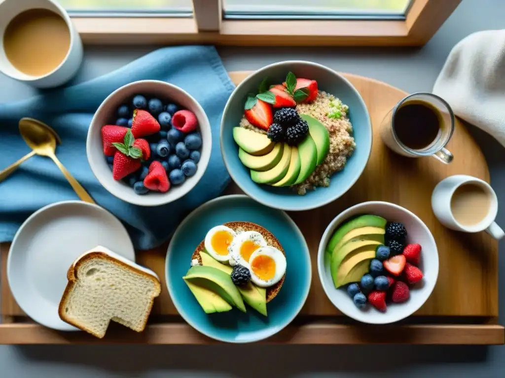
[[[134,330],[136,332],[142,332],[145,329],[145,326],[147,324],[147,319],[149,318],[149,314],[150,314],[151,310],[153,309],[154,300],[161,293],[161,284],[160,284],[160,281],[156,277],[154,277],[154,276],[152,276],[150,274],[147,274],[144,271],[142,271],[140,269],[137,269],[137,268],[135,268],[135,267],[133,267],[131,265],[125,264],[122,261],[114,259],[110,255],[108,255],[107,253],[102,252],[102,251],[92,251],[92,252],[90,252],[90,253],[82,256],[79,260],[75,261],[70,266],[70,268],[68,269],[68,271],[67,271],[68,283],[67,283],[67,286],[65,287],[65,291],[63,292],[62,299],[60,300],[60,305],[58,306],[58,314],[60,316],[60,319],[62,321],[64,321],[64,322],[66,322],[66,323],[68,323],[68,324],[76,327],[76,328],[79,328],[82,331],[86,331],[86,332],[90,333],[91,335],[96,336],[97,338],[100,338],[100,339],[103,338],[103,336],[94,333],[91,329],[73,322],[71,319],[67,318],[67,316],[65,314],[65,306],[66,306],[67,300],[68,300],[68,298],[70,296],[70,293],[74,289],[74,286],[77,283],[77,279],[78,279],[78,277],[77,277],[77,271],[78,271],[79,267],[82,264],[84,264],[84,263],[86,263],[86,262],[88,262],[90,260],[95,260],[95,259],[109,261],[112,264],[115,264],[115,265],[117,265],[117,266],[119,266],[119,267],[121,267],[123,269],[127,269],[127,270],[130,270],[130,271],[133,271],[136,274],[139,274],[139,275],[141,275],[141,276],[143,276],[145,278],[148,278],[151,281],[153,281],[153,283],[155,284],[155,287],[158,290],[156,292],[156,295],[153,296],[153,297],[151,297],[151,299],[150,299],[150,301],[148,303],[148,311],[146,311],[145,318],[144,318],[144,320],[142,322],[142,328],[140,330]]]

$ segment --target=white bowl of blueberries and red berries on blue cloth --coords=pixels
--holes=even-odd
[[[156,80],[111,93],[89,126],[86,154],[98,181],[114,196],[160,206],[188,193],[211,156],[209,119],[183,89]]]

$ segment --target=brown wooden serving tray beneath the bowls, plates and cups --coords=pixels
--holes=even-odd
[[[250,72],[232,72],[238,84]],[[498,316],[498,242],[488,234],[465,234],[443,227],[431,210],[431,192],[444,177],[469,174],[489,182],[489,171],[478,145],[458,121],[448,145],[455,158],[444,165],[429,157],[411,159],[389,151],[378,128],[385,113],[407,93],[385,83],[343,74],[363,96],[374,129],[372,155],[357,183],[342,198],[323,208],[291,212],[304,233],[312,256],[312,286],[299,316],[286,329],[267,339],[280,344],[503,344],[505,332]],[[322,86],[324,88],[324,85]],[[335,93],[338,96],[338,93]],[[358,147],[359,141],[358,141]],[[324,189],[321,189],[324,190]],[[226,194],[241,193],[232,183]],[[364,201],[382,200],[416,213],[435,237],[440,257],[438,282],[428,301],[409,319],[395,325],[370,326],[342,316],[328,300],[317,273],[317,251],[328,223],[344,209]],[[33,323],[12,297],[7,282],[9,244],[1,246],[2,281],[0,343],[143,343],[210,344],[216,341],[199,334],[178,316],[162,283],[149,319],[140,334],[119,325],[111,327],[103,340],[84,332],[57,332]],[[167,245],[138,251],[137,262],[165,280]]]

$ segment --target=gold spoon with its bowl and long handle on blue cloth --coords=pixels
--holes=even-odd
[[[19,121],[19,132],[25,140],[26,144],[37,155],[47,156],[53,159],[63,175],[67,178],[77,196],[84,202],[94,204],[93,199],[87,194],[81,184],[70,174],[55,155],[56,150],[56,133],[49,131],[50,128],[39,120],[33,118],[23,118]]]

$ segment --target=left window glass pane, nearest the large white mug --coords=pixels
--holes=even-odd
[[[59,0],[70,12],[192,12],[191,0]]]

